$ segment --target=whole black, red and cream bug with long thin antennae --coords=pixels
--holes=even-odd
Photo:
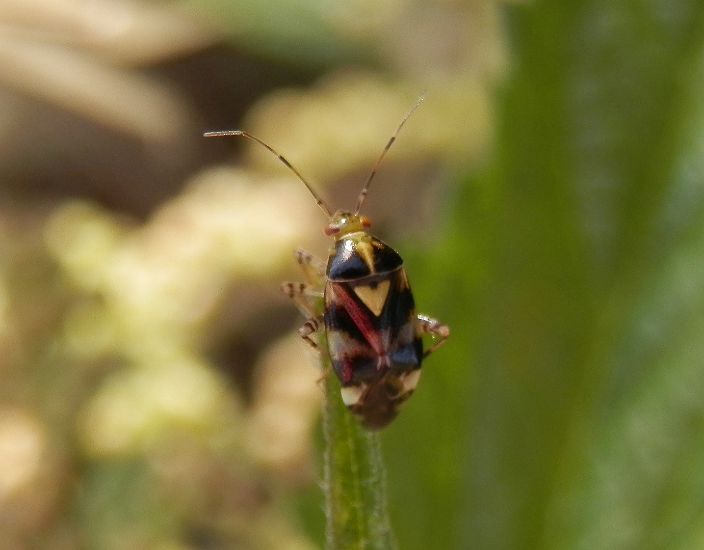
[[[321,350],[314,335],[325,330],[327,352],[340,380],[342,400],[369,430],[384,428],[396,418],[401,404],[415,390],[422,360],[450,335],[446,325],[415,313],[401,256],[368,234],[370,221],[359,214],[386,152],[424,96],[418,98],[386,143],[360,191],[354,212],[338,210],[331,214],[298,170],[255,136],[241,130],[204,134],[244,136],[264,146],[296,174],[325,212],[325,235],[335,239],[327,266],[308,252],[296,250],[306,282],[283,283],[281,288],[308,317],[298,333],[318,352]],[[316,307],[321,298],[322,315]],[[436,338],[425,351],[424,333]]]

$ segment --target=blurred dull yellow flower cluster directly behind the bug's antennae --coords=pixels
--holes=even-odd
[[[403,127],[387,162],[472,162],[491,141],[489,90],[473,79],[432,86]],[[393,82],[362,70],[341,70],[308,90],[279,90],[260,100],[244,126],[270,143],[316,188],[345,174],[371,170],[422,85]],[[285,167],[256,144],[250,162]],[[363,181],[360,181],[360,188]],[[351,207],[348,205],[347,207]]]

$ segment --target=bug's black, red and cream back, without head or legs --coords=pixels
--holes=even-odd
[[[360,232],[327,265],[325,331],[342,399],[366,428],[391,422],[420,377],[422,340],[403,260]]]

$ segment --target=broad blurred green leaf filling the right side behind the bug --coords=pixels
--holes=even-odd
[[[704,539],[703,17],[507,8],[494,158],[406,253],[453,334],[384,434],[404,549]]]

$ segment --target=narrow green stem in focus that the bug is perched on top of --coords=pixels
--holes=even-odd
[[[327,359],[322,364],[329,368]],[[347,410],[332,372],[325,378],[322,429],[327,550],[395,550],[379,435]]]

